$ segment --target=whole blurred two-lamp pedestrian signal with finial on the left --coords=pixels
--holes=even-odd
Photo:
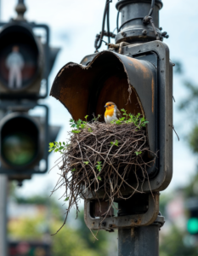
[[[0,22],[0,173],[18,180],[47,172],[48,143],[60,129],[48,125],[48,106],[37,102],[48,96],[59,48],[49,47],[47,25],[23,19],[21,4],[15,20]]]

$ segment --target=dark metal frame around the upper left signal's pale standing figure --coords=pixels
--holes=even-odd
[[[16,99],[16,98],[28,98],[28,99],[43,99],[48,96],[48,74],[50,73],[50,69],[53,65],[50,65],[50,62],[53,62],[50,60],[50,54],[51,50],[49,48],[49,28],[45,24],[36,24],[34,22],[27,22],[25,20],[11,20],[10,22],[0,22],[1,32],[0,32],[0,38],[2,34],[4,33],[3,37],[8,36],[8,30],[11,30],[11,33],[14,31],[17,32],[19,30],[20,32],[25,34],[25,32],[31,37],[31,39],[34,41],[34,44],[37,45],[38,50],[38,60],[37,60],[37,73],[34,75],[34,77],[31,79],[29,84],[25,85],[24,88],[20,90],[12,90],[8,88],[8,84],[5,84],[5,82],[0,81],[0,98],[3,100],[5,99]],[[46,32],[45,36],[45,44],[42,44],[42,42],[39,41],[35,33],[33,32],[33,29],[41,28]],[[19,38],[17,38],[19,39]],[[14,45],[14,43],[13,43]],[[58,49],[59,51],[59,49]],[[56,52],[56,54],[58,53]],[[53,52],[54,55],[54,52]],[[56,56],[56,55],[55,55]],[[55,59],[55,57],[53,56]],[[44,60],[44,62],[43,62]],[[44,67],[44,68],[43,68]],[[45,93],[43,95],[39,94],[39,90],[41,87],[41,80],[44,79],[46,82],[43,83],[45,87]],[[37,85],[37,86],[36,86]]]

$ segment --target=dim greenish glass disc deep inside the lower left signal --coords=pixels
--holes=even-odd
[[[8,163],[23,166],[30,163],[36,153],[36,145],[30,135],[14,132],[3,138],[3,154]]]

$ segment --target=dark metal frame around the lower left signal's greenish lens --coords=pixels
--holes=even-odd
[[[34,117],[28,114],[24,114],[30,109],[33,109],[36,107],[39,107],[45,110],[45,118],[43,120],[42,127],[41,127],[41,124],[39,124],[39,120],[37,119],[37,116]],[[38,131],[39,141],[37,142],[39,147],[38,153],[37,153],[38,154],[37,162],[32,163],[32,165],[30,166],[20,167],[20,166],[8,166],[8,164],[3,164],[3,160],[1,160],[0,174],[3,173],[3,174],[7,174],[8,176],[25,177],[31,174],[42,174],[47,172],[48,171],[48,136],[49,136],[48,106],[43,104],[37,104],[37,102],[25,102],[25,103],[3,102],[3,103],[0,103],[0,109],[2,109],[4,112],[8,110],[12,111],[11,115],[14,115],[16,113],[16,114],[19,114],[19,116],[24,115],[25,118],[32,119],[34,122],[37,123],[38,130],[39,130]],[[6,121],[8,115],[5,115],[4,118],[1,120],[1,122],[4,123],[4,120]],[[0,129],[1,129],[0,133],[2,132],[2,128],[3,128],[3,124],[1,122],[0,122]],[[41,134],[41,129],[43,130],[42,134]],[[43,137],[42,141],[41,141],[41,136]],[[44,142],[44,145],[41,144],[43,142]],[[0,143],[2,143],[1,137],[0,137]],[[2,158],[2,155],[1,155],[1,158]],[[45,160],[45,168],[43,168],[43,170],[39,170],[39,166],[37,166],[37,164],[39,163],[39,160]]]

